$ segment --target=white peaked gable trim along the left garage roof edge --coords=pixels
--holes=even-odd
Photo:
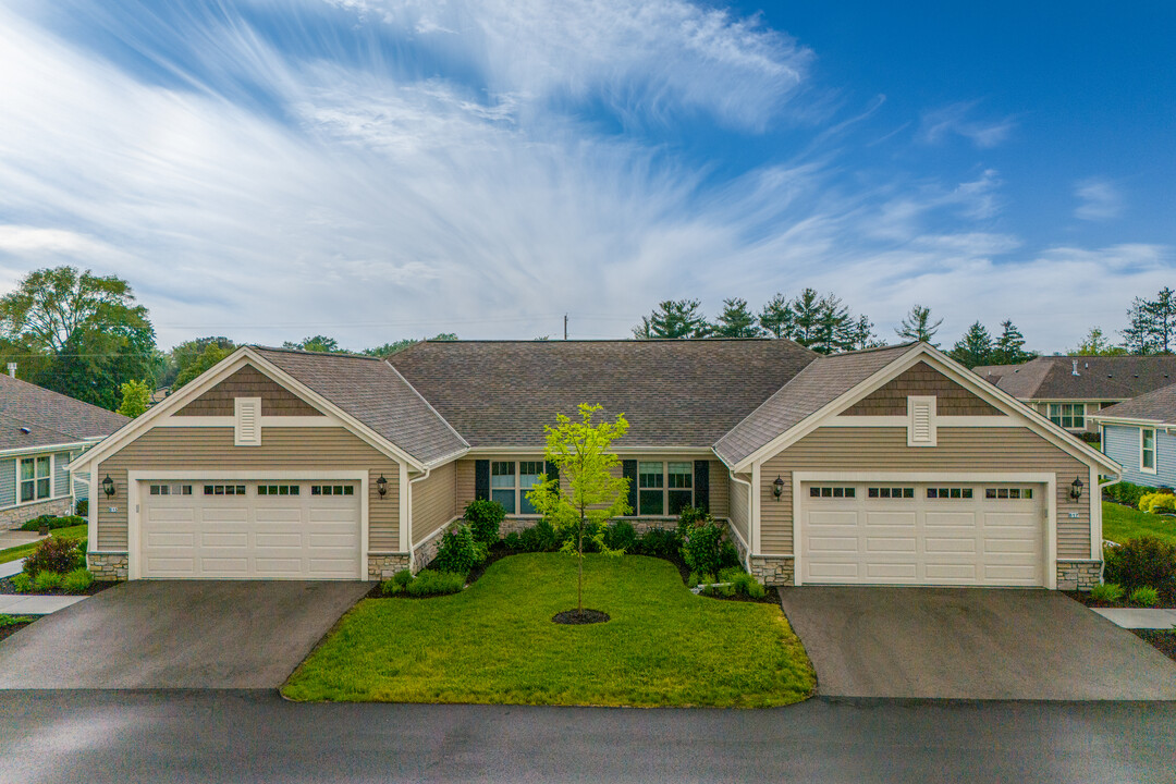
[[[161,403],[153,406],[147,409],[145,414],[125,424],[122,428],[99,443],[98,447],[86,453],[79,461],[76,461],[76,464],[83,465],[93,461],[99,461],[118,451],[138,437],[143,430],[159,425],[159,420],[169,417],[174,411],[180,410],[193,400],[240,370],[246,364],[253,364],[272,381],[286,387],[299,397],[302,397],[305,401],[313,404],[315,408],[336,417],[345,428],[354,433],[369,447],[388,455],[393,460],[407,462],[413,468],[423,470],[425,467],[421,465],[420,461],[415,457],[406,453],[400,447],[396,447],[383,436],[374,433],[355,417],[346,414],[342,409],[319,393],[312,390],[309,387],[306,387],[289,374],[279,369],[248,346],[242,346],[236,349],[236,351],[221,360],[211,369],[206,370],[195,381],[168,395]]]

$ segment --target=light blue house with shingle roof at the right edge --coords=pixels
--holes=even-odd
[[[1094,417],[1102,450],[1135,484],[1176,488],[1176,384],[1104,408]]]

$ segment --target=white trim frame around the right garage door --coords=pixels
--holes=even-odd
[[[985,382],[987,383],[987,382]],[[1096,469],[1090,467],[1091,474]],[[981,471],[793,471],[793,552],[796,555],[796,575],[800,574],[800,485],[802,482],[1023,482],[1045,485],[1045,588],[1057,589],[1057,475],[1041,473]],[[1091,507],[1094,498],[1091,498]],[[1094,510],[1090,512],[1094,520]],[[800,585],[796,575],[793,582]]]

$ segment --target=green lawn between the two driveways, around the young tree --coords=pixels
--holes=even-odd
[[[804,699],[815,677],[775,604],[694,596],[659,558],[515,555],[453,596],[363,599],[290,676],[292,699],[761,708]]]

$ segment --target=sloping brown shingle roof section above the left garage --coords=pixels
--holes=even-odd
[[[422,463],[448,457],[467,445],[381,359],[262,347],[254,350]]]

